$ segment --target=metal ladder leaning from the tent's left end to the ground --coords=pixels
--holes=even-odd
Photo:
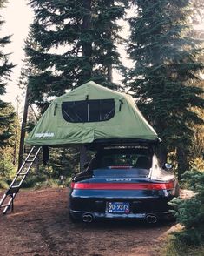
[[[36,160],[38,153],[40,152],[41,147],[33,146],[25,158],[23,165],[16,172],[16,176],[10,184],[9,189],[3,194],[2,199],[0,200],[0,210],[3,208],[3,214],[6,214],[7,211],[14,210],[14,199],[16,194],[23,184],[23,180],[27,177],[30,172],[30,168]]]

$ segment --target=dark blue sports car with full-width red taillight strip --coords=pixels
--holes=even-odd
[[[161,167],[151,146],[105,146],[97,149],[86,171],[72,179],[69,217],[156,223],[172,218],[168,201],[178,195],[174,174]]]

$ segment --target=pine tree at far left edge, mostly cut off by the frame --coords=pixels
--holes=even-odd
[[[0,10],[6,1],[0,1]],[[0,30],[3,26],[3,19],[0,17]],[[10,43],[10,36],[5,36],[0,38],[0,96],[6,92],[6,81],[10,77],[10,72],[14,65],[9,62],[9,54],[3,52],[3,47]],[[0,99],[0,147],[5,146],[8,143],[8,139],[12,135],[10,133],[10,124],[13,122],[14,112],[6,111],[10,104],[3,102]]]

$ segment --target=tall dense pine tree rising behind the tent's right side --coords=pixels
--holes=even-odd
[[[193,125],[202,123],[192,107],[204,105],[202,89],[194,86],[204,67],[196,62],[201,50],[186,36],[189,2],[137,0],[135,17],[129,19],[128,52],[135,67],[127,79],[139,108],[165,142],[162,161],[176,150],[179,178],[188,168]]]

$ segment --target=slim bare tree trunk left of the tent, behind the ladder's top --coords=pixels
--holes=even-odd
[[[18,155],[18,170],[23,164],[24,138],[25,138],[26,125],[27,125],[28,110],[29,110],[29,89],[27,87],[26,93],[25,93],[24,109],[23,109],[23,121],[21,126],[21,136],[20,136],[19,155]]]

